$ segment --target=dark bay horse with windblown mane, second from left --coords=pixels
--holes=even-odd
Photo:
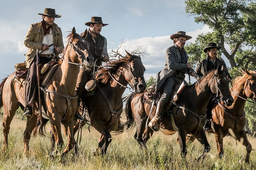
[[[146,89],[145,67],[141,62],[141,57],[126,53],[126,57],[111,61],[107,67],[102,67],[96,72],[95,78],[99,82],[98,87],[94,95],[86,96],[83,100],[90,116],[91,125],[101,134],[98,148],[94,150],[95,155],[105,154],[107,147],[112,142],[110,132],[113,131],[123,110],[122,94],[125,88],[128,88],[127,84],[129,83],[134,92],[138,94],[143,93]],[[81,122],[81,127],[86,124],[86,121],[88,120]],[[133,125],[129,119],[124,124],[127,129]],[[74,134],[79,125],[80,121],[74,127]],[[52,136],[54,147],[53,139]]]

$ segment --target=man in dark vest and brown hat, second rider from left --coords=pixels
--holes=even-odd
[[[86,22],[85,25],[89,27],[85,40],[90,43],[89,49],[94,57],[96,67],[98,67],[102,65],[102,62],[109,60],[107,39],[100,34],[102,27],[108,24],[103,23],[101,17],[92,17],[91,21]],[[81,98],[85,94],[85,85],[92,78],[92,72],[93,70],[87,70],[86,68],[80,69],[75,89],[78,97]]]

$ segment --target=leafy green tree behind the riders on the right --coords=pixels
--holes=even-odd
[[[193,64],[205,58],[203,49],[208,42],[215,42],[231,64],[232,77],[240,75],[245,65],[256,68],[256,2],[255,0],[186,0],[185,11],[195,22],[208,25],[212,32],[200,34],[195,43],[186,45]],[[256,127],[256,106],[246,103],[244,109],[248,127],[253,135]]]

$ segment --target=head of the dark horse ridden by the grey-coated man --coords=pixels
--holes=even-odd
[[[224,65],[219,65],[213,73],[212,80],[210,81],[211,91],[217,94],[217,97],[220,96],[220,99],[226,106],[231,106],[234,99],[229,91],[229,80],[225,74]]]

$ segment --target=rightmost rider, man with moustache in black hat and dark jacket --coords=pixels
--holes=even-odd
[[[218,50],[220,48],[221,47],[218,47],[216,43],[213,43],[213,42],[207,43],[206,48],[203,49],[203,52],[207,53],[207,57],[197,62],[197,67],[195,68],[195,72],[197,74],[195,75],[195,78],[199,79],[210,70],[217,69],[218,66],[221,64],[221,65],[224,65],[225,74],[227,75],[227,78],[229,79],[229,81],[231,81],[232,78],[228,72],[228,69],[224,60],[220,60],[219,58],[217,58]],[[212,101],[212,99],[210,101]],[[209,102],[207,105],[206,123],[205,123],[205,126],[203,127],[203,129],[206,132],[210,132],[211,130],[210,118],[212,117],[211,110],[212,110],[213,104],[214,104],[213,102]]]

